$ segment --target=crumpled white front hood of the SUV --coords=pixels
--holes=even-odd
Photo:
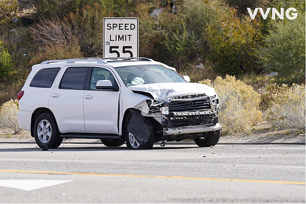
[[[133,85],[128,87],[130,90],[147,92],[152,94],[155,100],[161,101],[172,96],[187,94],[203,94],[214,96],[216,92],[213,88],[202,83],[150,83]]]

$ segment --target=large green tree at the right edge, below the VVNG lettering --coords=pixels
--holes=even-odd
[[[277,21],[259,49],[265,72],[278,72],[279,82],[298,83],[305,77],[305,13]]]

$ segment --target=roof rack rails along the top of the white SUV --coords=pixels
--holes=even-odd
[[[75,58],[75,59],[69,59],[69,60],[48,60],[40,63],[41,65],[46,65],[50,63],[74,63],[74,62],[84,62],[84,61],[89,61],[89,62],[97,62],[100,64],[107,64],[108,62],[118,62],[118,61],[129,61],[129,60],[141,60],[141,61],[150,61],[150,59],[145,58],[145,57],[83,57],[83,58]]]

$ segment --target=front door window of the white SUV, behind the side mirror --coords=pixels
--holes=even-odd
[[[112,73],[107,69],[103,68],[93,68],[91,77],[90,77],[90,90],[97,90],[96,84],[99,80],[109,80],[113,85],[117,85],[117,82]]]

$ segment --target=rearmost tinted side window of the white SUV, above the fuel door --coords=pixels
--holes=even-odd
[[[32,79],[30,86],[39,88],[51,88],[55,77],[57,77],[60,67],[44,68],[39,70]]]

